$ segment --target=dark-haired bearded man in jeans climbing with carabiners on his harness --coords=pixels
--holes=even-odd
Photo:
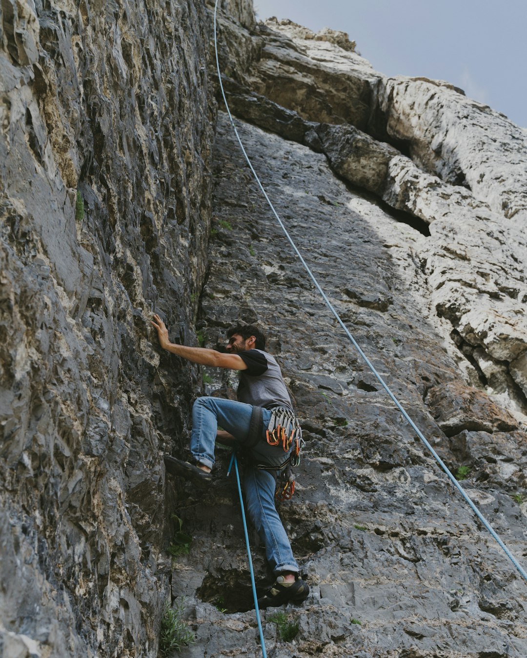
[[[226,353],[186,347],[169,341],[159,315],[152,325],[163,349],[192,363],[240,371],[238,401],[198,397],[192,407],[190,453],[193,463],[165,456],[167,471],[200,482],[212,479],[218,439],[238,445],[249,455],[243,487],[248,515],[265,545],[275,583],[258,599],[261,608],[302,603],[308,584],[300,578],[281,519],[275,507],[277,475],[287,467],[299,434],[291,399],[274,357],[265,352],[265,336],[253,325],[232,327]],[[218,425],[224,430],[218,430]]]

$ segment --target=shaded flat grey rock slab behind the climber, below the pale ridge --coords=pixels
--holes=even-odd
[[[522,559],[525,505],[512,495],[526,484],[527,436],[466,386],[457,351],[445,349],[415,256],[423,236],[349,191],[323,155],[246,124],[238,130],[331,303],[447,464],[468,467],[468,493]],[[262,323],[307,440],[297,493],[281,514],[312,595],[287,609],[300,624],[294,644],[275,635],[273,611],[264,613],[269,655],[519,658],[523,582],[328,316],[224,116],[216,149],[217,233],[198,323],[210,346],[238,318]],[[209,390],[235,386],[229,372],[208,374]],[[194,542],[175,561],[172,587],[186,597],[198,638],[183,655],[261,655],[244,612],[249,577],[227,461],[220,453],[211,490],[186,486],[180,497]],[[253,557],[262,576],[262,549]]]

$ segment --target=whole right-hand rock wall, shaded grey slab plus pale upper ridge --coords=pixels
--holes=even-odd
[[[526,406],[515,354],[526,332],[519,293],[507,292],[523,280],[523,224],[464,173],[493,161],[492,176],[516,199],[523,169],[503,175],[506,158],[492,149],[510,139],[523,162],[524,131],[447,83],[386,80],[352,49],[314,43],[289,20],[257,26],[256,57],[248,61],[245,49],[235,66],[248,33],[233,23],[224,30],[229,103],[250,122],[238,130],[287,230],[375,367],[451,470],[465,467],[466,491],[524,563]],[[417,120],[412,103],[424,105],[422,97],[435,109]],[[445,135],[467,136],[431,159],[442,118]],[[501,145],[474,146],[482,131],[502,129]],[[286,609],[300,626],[292,643],[281,640],[273,611],[264,614],[269,655],[523,656],[524,581],[327,313],[225,115],[214,175],[198,319],[205,344],[221,343],[231,322],[260,322],[308,440],[297,494],[281,514],[312,595]],[[209,392],[236,385],[229,373],[207,374]],[[194,536],[190,555],[173,563],[173,595],[185,597],[197,638],[183,655],[256,657],[236,488],[225,478],[229,455],[217,457],[208,492],[175,483]]]

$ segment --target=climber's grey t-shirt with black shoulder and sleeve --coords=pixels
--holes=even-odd
[[[240,370],[237,396],[240,402],[257,407],[287,407],[292,411],[291,398],[275,357],[262,349],[238,352],[246,370]]]

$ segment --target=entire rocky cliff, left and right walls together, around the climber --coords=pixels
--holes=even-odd
[[[264,614],[269,655],[524,657],[526,583],[328,315],[223,112],[215,130],[211,8],[2,5],[3,654],[155,656],[170,594],[196,634],[180,655],[262,653],[229,453],[206,492],[162,463],[194,397],[236,378],[161,354],[155,311],[207,347],[260,322],[303,422],[281,514],[312,595],[293,643]],[[287,230],[525,567],[526,132],[385,78],[341,32],[220,9]]]

